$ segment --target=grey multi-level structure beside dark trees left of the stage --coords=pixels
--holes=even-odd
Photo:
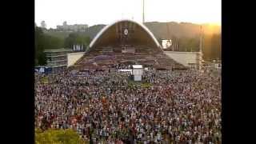
[[[72,52],[71,49],[48,49],[44,50],[46,54],[46,66],[52,67],[53,72],[63,70],[67,67],[67,54]]]

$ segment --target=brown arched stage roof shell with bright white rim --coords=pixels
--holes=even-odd
[[[127,35],[124,34],[124,30],[129,30]],[[147,45],[150,47],[161,47],[158,40],[154,37],[154,34],[144,26],[142,23],[135,22],[130,19],[122,19],[112,22],[110,25],[105,26],[94,39],[90,42],[90,46],[87,50],[96,46],[110,46],[111,44],[119,43],[120,38],[127,36],[128,43]]]

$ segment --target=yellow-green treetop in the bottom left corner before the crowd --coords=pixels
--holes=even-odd
[[[35,143],[55,143],[55,144],[84,144],[85,141],[79,137],[74,130],[46,130],[35,129]]]

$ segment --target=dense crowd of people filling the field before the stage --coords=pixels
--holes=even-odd
[[[125,72],[36,74],[35,126],[93,143],[221,143],[220,75],[147,70],[142,80],[150,86]]]

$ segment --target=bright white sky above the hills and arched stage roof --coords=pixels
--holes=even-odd
[[[110,24],[128,18],[142,22],[142,0],[35,0],[37,26]],[[222,0],[145,0],[145,22],[213,23],[221,26]]]

